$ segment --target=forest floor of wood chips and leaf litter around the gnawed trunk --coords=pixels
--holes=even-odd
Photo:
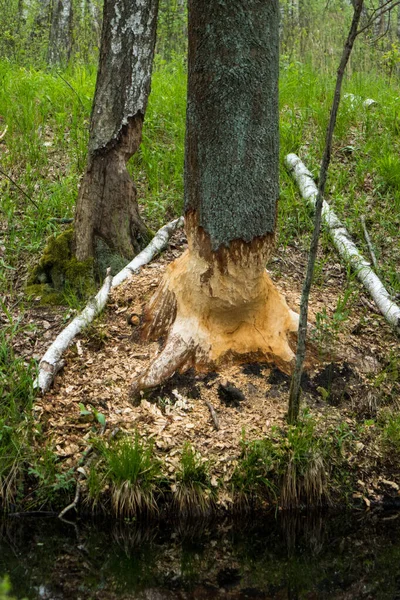
[[[290,379],[267,363],[224,366],[212,373],[191,370],[175,374],[132,402],[130,384],[160,345],[142,342],[139,328],[128,323],[130,316],[143,313],[166,266],[185,248],[184,233],[178,231],[167,251],[112,290],[104,313],[67,351],[53,389],[35,401],[34,416],[43,434],[38,443],[51,444],[63,471],[76,468],[99,433],[93,415],[101,414],[105,437],[118,429],[132,438],[138,431],[143,439],[153,440],[165,475],[174,480],[182,447],[189,442],[207,460],[211,485],[218,487],[217,504],[229,508],[229,482],[243,439],[265,438],[274,427],[285,428]],[[304,252],[292,245],[280,247],[269,265],[278,289],[296,312],[305,261]],[[325,262],[311,294],[309,320],[316,326],[302,402],[321,430],[333,427],[342,432],[335,435],[352,439],[346,450],[351,496],[369,507],[388,498],[400,500],[399,460],[385,447],[379,424],[385,411],[399,409],[398,373],[393,370],[400,343],[364,290],[353,283],[346,295],[347,288],[343,266]],[[39,359],[65,326],[65,311],[40,306],[39,297],[36,304],[25,313],[33,329],[14,340],[25,358]],[[229,393],[229,386],[236,392]],[[218,430],[206,402],[218,415]]]

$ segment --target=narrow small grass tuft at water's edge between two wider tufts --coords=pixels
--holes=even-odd
[[[209,464],[189,442],[183,446],[176,484],[172,490],[174,505],[182,514],[206,514],[212,505]]]

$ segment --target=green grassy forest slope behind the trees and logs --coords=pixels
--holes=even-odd
[[[67,19],[58,14],[60,6],[70,6]],[[370,11],[377,8],[366,6]],[[295,152],[318,173],[352,6],[342,1],[283,2],[281,16],[277,254],[292,248],[305,264],[312,215],[286,173],[283,158]],[[11,481],[11,472],[28,469],[37,485],[45,481],[48,494],[59,489],[71,493],[74,479],[58,472],[50,448],[46,455],[29,456],[32,435],[40,436],[31,409],[41,356],[34,350],[37,323],[27,315],[41,299],[27,295],[25,286],[46,239],[62,232],[65,221],[73,217],[86,164],[100,30],[101,6],[90,0],[72,5],[54,1],[52,6],[46,1],[1,2],[0,478]],[[378,274],[394,299],[400,297],[399,74],[396,6],[359,36],[351,56],[326,194],[368,255],[361,222],[365,217]],[[364,105],[368,98],[375,103]],[[129,165],[141,214],[153,229],[182,213],[185,102],[186,8],[180,0],[164,0],[143,142]],[[327,271],[334,273],[332,265],[338,259],[325,231],[321,246],[314,285],[323,289]],[[360,311],[361,306],[361,329],[382,326],[368,300],[361,302],[360,287],[350,271],[341,286],[334,309],[317,313],[317,344],[334,345],[354,307]],[[59,314],[67,322],[84,299],[66,290],[63,302],[66,306]],[[371,375],[371,383],[379,387],[381,405],[390,405],[391,412],[384,417],[376,410],[365,427],[376,426],[382,439],[400,450],[399,356],[395,344],[379,347],[376,353],[380,368]],[[6,488],[2,489],[4,499]]]

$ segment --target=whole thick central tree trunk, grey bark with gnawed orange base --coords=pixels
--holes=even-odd
[[[145,335],[166,342],[133,393],[190,366],[293,359],[297,318],[265,271],[279,195],[279,7],[233,4],[189,0],[188,250],[148,306]]]

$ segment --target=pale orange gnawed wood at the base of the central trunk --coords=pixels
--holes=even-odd
[[[273,238],[236,240],[213,252],[195,216],[185,223],[188,250],[167,267],[146,312],[144,336],[166,342],[133,382],[132,395],[160,385],[177,370],[207,370],[249,357],[290,371],[290,334],[298,318],[265,271]]]

